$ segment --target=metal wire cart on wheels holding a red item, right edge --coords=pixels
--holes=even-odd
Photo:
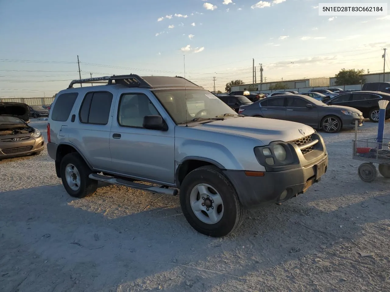
[[[358,169],[359,177],[362,181],[374,181],[378,172],[374,163],[379,164],[379,173],[385,178],[390,178],[390,139],[383,138],[378,142],[378,138],[358,139],[358,123],[355,123],[355,140],[352,141],[352,159],[365,161]]]

